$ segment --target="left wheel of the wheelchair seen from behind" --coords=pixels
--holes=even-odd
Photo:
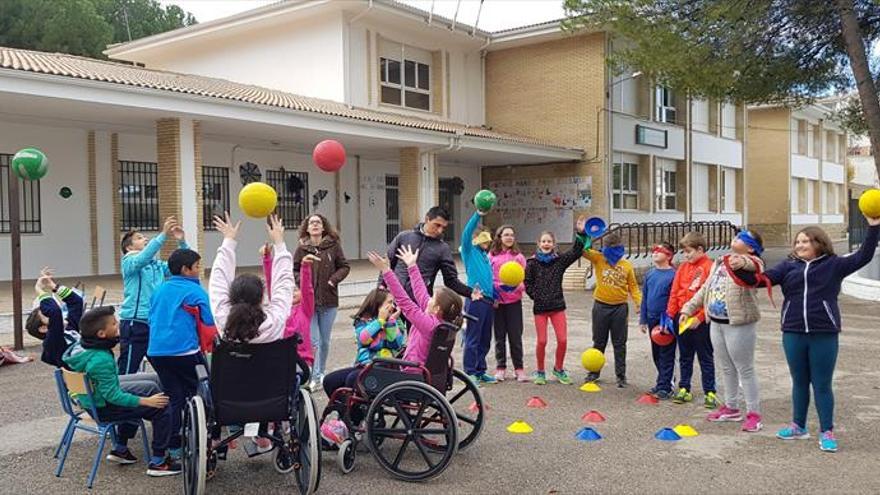
[[[186,403],[183,413],[183,492],[203,495],[208,471],[208,424],[205,403],[198,395]]]

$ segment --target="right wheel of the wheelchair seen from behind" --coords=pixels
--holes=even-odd
[[[299,407],[295,420],[291,421],[291,451],[294,476],[300,493],[315,493],[321,478],[321,448],[318,434],[318,418],[311,395],[299,389]]]

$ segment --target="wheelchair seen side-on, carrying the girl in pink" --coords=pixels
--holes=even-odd
[[[457,451],[476,441],[485,405],[479,388],[453,368],[459,330],[451,323],[437,326],[424,366],[376,358],[361,370],[353,388],[333,392],[321,421],[336,411],[348,429],[336,456],[343,473],[354,469],[358,445],[366,442],[378,464],[395,478],[425,481],[439,476]],[[324,446],[332,448],[326,442]],[[416,455],[404,456],[410,446]]]

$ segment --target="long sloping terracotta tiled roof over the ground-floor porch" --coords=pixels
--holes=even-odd
[[[447,134],[461,134],[463,136],[508,143],[537,145],[557,150],[572,149],[539,139],[495,132],[482,127],[471,127],[442,120],[349,107],[344,103],[336,101],[310,98],[260,86],[227,81],[225,79],[144,69],[132,65],[62,53],[46,53],[0,47],[0,70],[2,69],[51,74],[221,100],[239,101],[352,120],[390,124]]]

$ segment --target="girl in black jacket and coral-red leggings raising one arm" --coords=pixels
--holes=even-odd
[[[585,217],[578,218],[576,232],[583,232]],[[563,385],[571,385],[571,377],[565,371],[565,351],[568,343],[568,323],[565,317],[565,297],[562,295],[562,277],[565,270],[580,258],[584,249],[585,238],[575,236],[574,245],[563,254],[559,254],[556,237],[552,232],[544,231],[538,238],[538,250],[526,262],[525,290],[532,298],[535,314],[535,330],[538,333],[538,345],[535,350],[537,367],[533,374],[537,385],[547,384],[544,372],[544,350],[547,348],[547,323],[553,324],[556,334],[556,361],[553,376]]]

